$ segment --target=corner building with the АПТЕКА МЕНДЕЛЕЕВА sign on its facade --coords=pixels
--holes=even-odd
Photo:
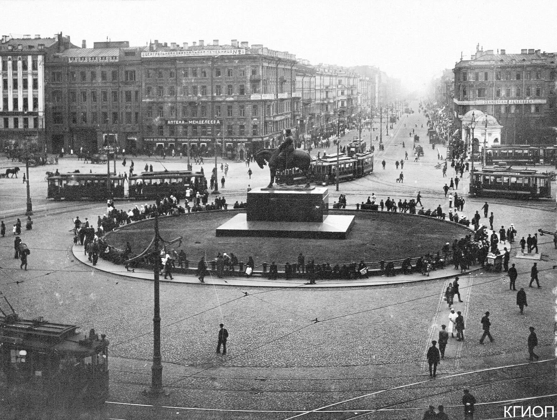
[[[141,52],[143,145],[212,155],[216,143],[231,159],[276,146],[300,110],[296,65],[293,54],[237,40],[155,40]]]

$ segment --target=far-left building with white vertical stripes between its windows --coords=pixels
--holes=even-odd
[[[45,150],[45,62],[74,46],[69,37],[2,36],[0,43],[0,144],[22,146],[33,140]]]

